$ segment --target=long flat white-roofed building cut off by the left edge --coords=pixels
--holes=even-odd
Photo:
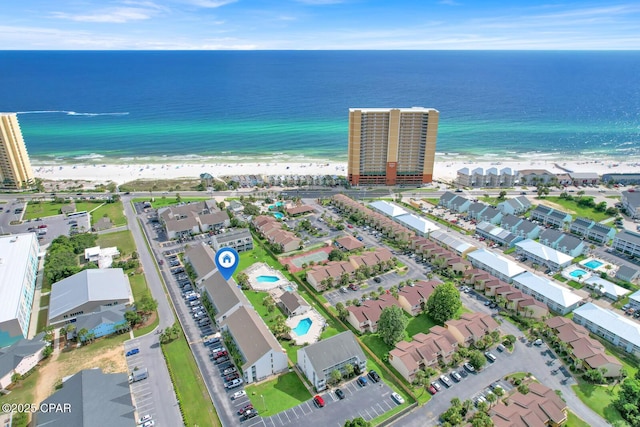
[[[39,251],[35,233],[0,236],[0,347],[27,337]]]

